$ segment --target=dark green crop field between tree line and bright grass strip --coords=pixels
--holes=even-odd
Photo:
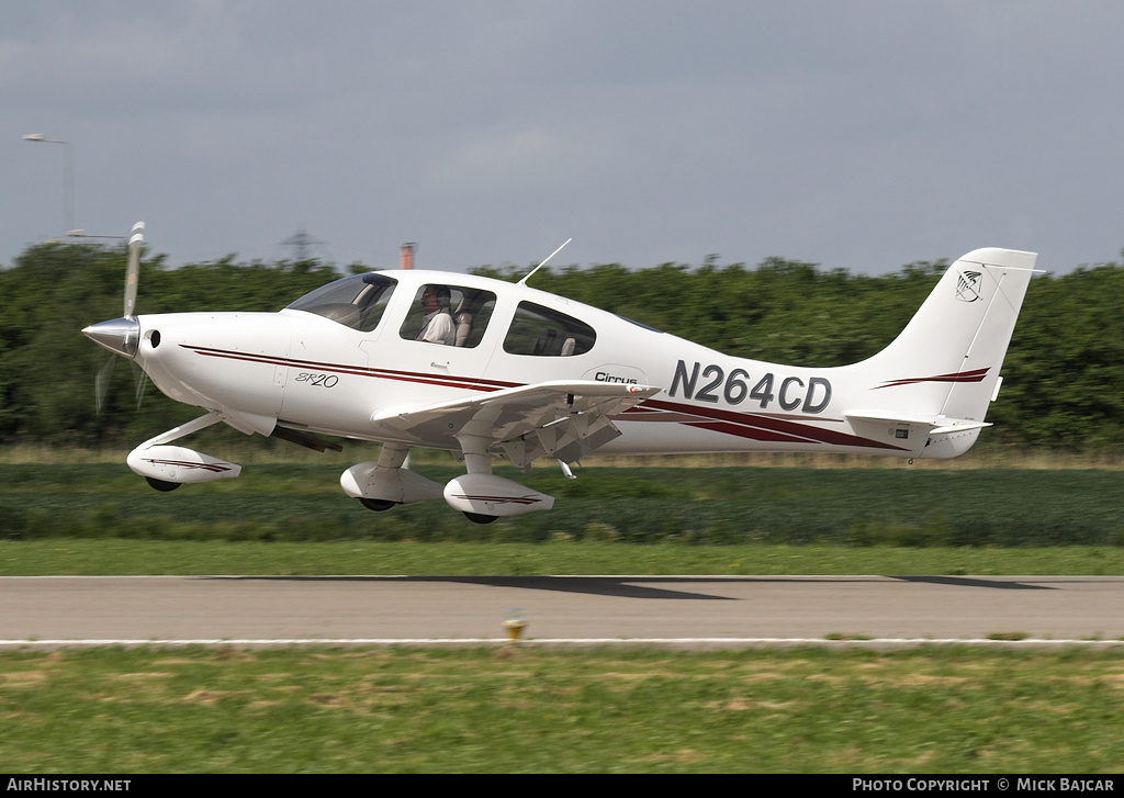
[[[346,466],[346,464],[344,464]],[[417,466],[443,481],[455,464]],[[7,539],[683,543],[844,547],[1120,547],[1115,469],[623,468],[523,478],[555,509],[488,526],[443,501],[371,513],[338,462],[250,465],[237,480],[151,490],[121,463],[0,464]],[[507,473],[498,469],[499,473]]]

